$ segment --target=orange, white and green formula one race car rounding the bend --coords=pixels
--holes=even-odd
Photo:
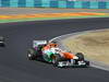
[[[89,61],[84,59],[82,52],[72,54],[58,47],[58,44],[47,40],[34,40],[33,48],[27,50],[29,60],[40,60],[52,63],[55,67],[88,67]]]

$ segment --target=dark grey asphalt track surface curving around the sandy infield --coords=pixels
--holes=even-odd
[[[59,69],[27,60],[33,39],[89,30],[109,28],[108,19],[76,19],[0,24],[7,46],[0,48],[0,82],[109,82],[109,72],[96,68]]]

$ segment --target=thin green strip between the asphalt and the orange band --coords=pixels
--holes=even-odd
[[[21,20],[0,20],[0,23],[10,22],[25,22],[25,21],[45,21],[45,20],[65,20],[65,19],[84,19],[84,17],[109,17],[109,15],[88,15],[88,16],[68,16],[68,17],[32,17],[32,19],[21,19]]]

